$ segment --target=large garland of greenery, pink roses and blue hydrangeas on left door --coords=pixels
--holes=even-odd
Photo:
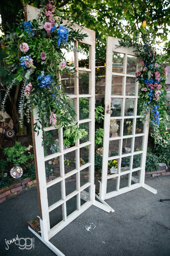
[[[75,73],[75,67],[70,69],[73,64],[67,64],[63,49],[68,50],[72,41],[82,41],[87,34],[83,34],[80,29],[74,29],[75,17],[63,25],[65,18],[59,9],[63,8],[57,9],[54,0],[45,0],[42,1],[37,20],[24,21],[21,11],[17,18],[18,27],[14,25],[11,29],[7,24],[8,35],[3,37],[6,43],[3,48],[8,54],[5,60],[9,67],[17,69],[17,74],[3,99],[2,116],[5,113],[6,98],[14,82],[23,81],[19,102],[20,125],[23,124],[25,114],[27,121],[30,121],[30,110],[36,108],[38,120],[33,125],[35,132],[39,134],[39,122],[44,138],[46,135],[43,127],[64,127],[66,134],[74,135],[75,142],[87,132],[75,124],[75,112],[68,104],[59,77],[63,71],[69,78]],[[45,143],[49,143],[47,137]]]

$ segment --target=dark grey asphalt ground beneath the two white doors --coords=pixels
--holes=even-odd
[[[156,195],[139,188],[107,200],[115,212],[91,206],[50,241],[65,256],[170,256],[170,177],[147,178]],[[27,221],[39,215],[37,189],[0,204],[0,256],[54,256]],[[93,224],[91,224],[93,223]],[[87,231],[85,227],[95,228]],[[34,249],[20,250],[5,239],[34,238]]]

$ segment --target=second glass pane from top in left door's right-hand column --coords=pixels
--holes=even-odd
[[[89,94],[89,72],[79,71],[79,94]]]

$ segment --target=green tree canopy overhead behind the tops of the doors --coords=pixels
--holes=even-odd
[[[8,0],[0,3],[5,32],[6,21],[13,23],[18,9],[26,3],[40,7],[40,0]],[[159,44],[167,41],[169,34],[170,2],[168,0],[56,0],[56,6],[64,6],[66,17],[77,13],[77,18],[83,26],[95,30],[97,60],[105,59],[107,36],[133,37],[135,30],[139,30],[140,33],[148,32]],[[143,15],[146,16],[147,22],[145,29],[142,27]],[[133,29],[130,31],[132,26]],[[165,49],[168,58],[170,43],[166,44]]]

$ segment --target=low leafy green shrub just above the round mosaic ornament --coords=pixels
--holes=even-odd
[[[26,147],[20,142],[16,142],[14,147],[4,148],[3,153],[7,156],[7,162],[13,163],[15,166],[25,164],[29,159],[34,159],[34,155],[26,155]]]

